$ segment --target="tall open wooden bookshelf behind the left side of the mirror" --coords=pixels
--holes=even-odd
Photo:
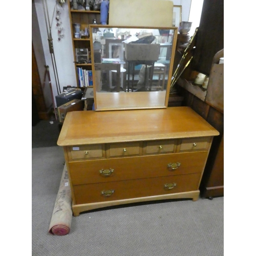
[[[88,73],[88,71],[92,72],[90,35],[82,36],[81,38],[76,38],[75,24],[80,24],[80,30],[84,31],[85,29],[87,29],[87,32],[89,33],[89,25],[93,24],[94,19],[96,19],[97,24],[100,24],[100,11],[73,10],[72,3],[70,0],[68,0],[68,6],[69,6],[69,15],[70,15],[70,27],[71,27],[71,33],[72,33],[76,83],[78,88],[82,88],[83,85],[84,87],[86,87],[86,84],[85,83],[81,84],[78,70],[82,69],[84,74]],[[88,57],[86,59],[86,62],[77,61],[76,49],[88,49]],[[84,79],[86,78],[84,77]],[[88,87],[93,87],[93,86],[88,85]]]

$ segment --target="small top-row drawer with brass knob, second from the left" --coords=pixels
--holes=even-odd
[[[122,142],[108,145],[107,157],[139,156],[140,142]]]

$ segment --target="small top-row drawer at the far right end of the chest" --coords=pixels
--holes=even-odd
[[[182,139],[180,145],[180,152],[208,150],[210,139],[211,137]]]

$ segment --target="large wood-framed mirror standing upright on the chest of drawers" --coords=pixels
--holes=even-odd
[[[91,25],[95,111],[166,108],[177,28]]]

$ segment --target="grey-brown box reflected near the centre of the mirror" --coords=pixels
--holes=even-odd
[[[149,60],[159,59],[160,44],[124,44],[126,60]]]

